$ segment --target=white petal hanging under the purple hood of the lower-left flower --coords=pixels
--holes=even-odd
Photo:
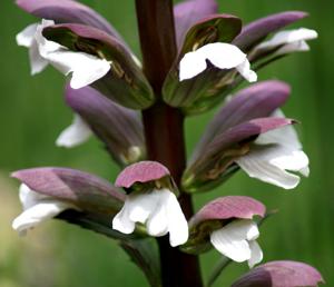
[[[24,235],[28,229],[36,227],[42,221],[53,218],[69,208],[72,208],[72,206],[56,199],[42,200],[18,216],[12,222],[12,228],[20,235]]]

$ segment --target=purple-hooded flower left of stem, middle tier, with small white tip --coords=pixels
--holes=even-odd
[[[65,95],[77,120],[61,132],[58,145],[72,147],[94,132],[121,166],[145,158],[143,123],[136,111],[112,102],[91,87],[75,90],[68,85]]]

